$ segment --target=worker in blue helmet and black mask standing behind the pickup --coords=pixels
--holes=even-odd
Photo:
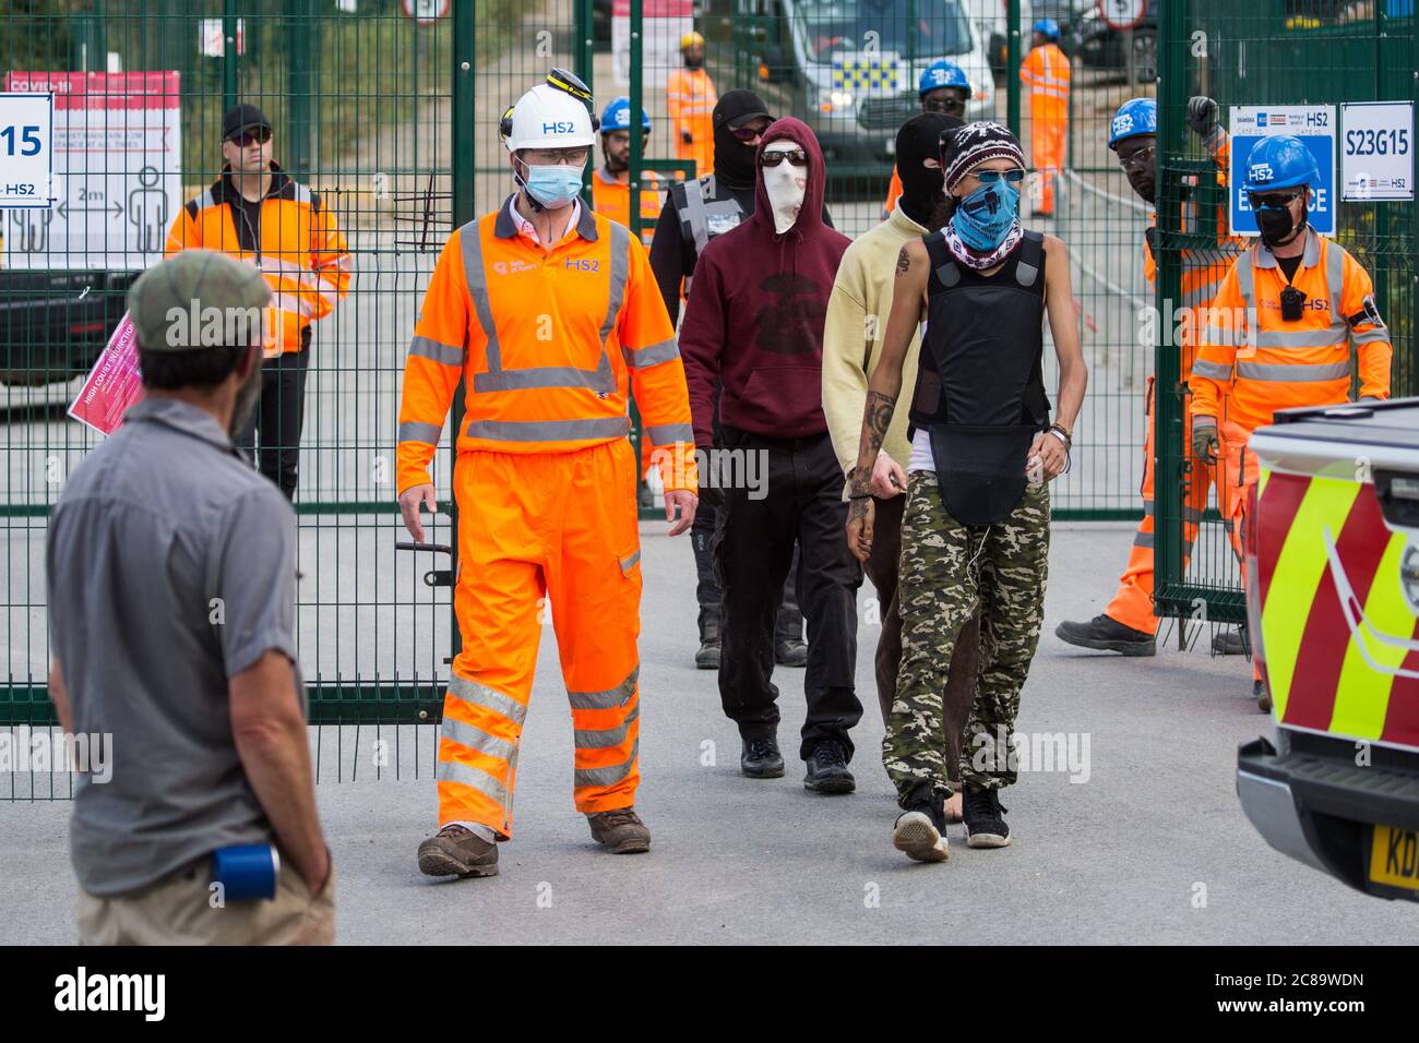
[[[1247,202],[1260,237],[1218,291],[1192,365],[1192,451],[1216,461],[1219,504],[1242,561],[1243,511],[1256,484],[1246,451],[1276,410],[1335,406],[1349,399],[1351,346],[1359,400],[1389,397],[1393,348],[1369,274],[1342,245],[1307,227],[1315,158],[1300,138],[1263,138],[1247,155]],[[1264,702],[1253,666],[1253,694]]]

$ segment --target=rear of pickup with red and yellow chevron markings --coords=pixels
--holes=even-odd
[[[1279,413],[1252,436],[1247,616],[1276,744],[1237,795],[1277,850],[1419,900],[1419,399]]]

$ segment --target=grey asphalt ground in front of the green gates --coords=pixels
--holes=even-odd
[[[749,780],[738,772],[715,674],[691,666],[690,548],[661,535],[663,524],[643,532],[639,809],[654,833],[650,854],[603,853],[572,807],[572,729],[548,633],[522,742],[515,837],[495,878],[438,883],[417,871],[414,849],[437,824],[430,728],[312,735],[341,942],[1257,945],[1389,942],[1412,932],[1413,908],[1286,859],[1242,815],[1236,748],[1270,732],[1247,697],[1243,661],[1210,658],[1206,633],[1192,651],[1169,641],[1152,660],[1084,654],[1053,637],[1059,620],[1093,614],[1112,593],[1127,526],[1054,531],[1046,630],[1019,724],[1032,748],[1063,735],[1073,763],[1066,756],[1054,771],[1022,772],[1006,792],[1012,847],[971,850],[955,826],[951,860],[935,866],[908,861],[890,841],[895,803],[878,754],[871,587],[860,597],[857,681],[867,712],[854,732],[857,793],[802,788],[792,759],[800,670],[779,668],[775,678],[788,776]],[[379,780],[376,738],[397,751]],[[0,942],[75,938],[68,815],[62,800],[0,803]]]

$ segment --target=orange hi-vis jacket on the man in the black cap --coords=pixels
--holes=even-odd
[[[219,250],[258,268],[271,287],[264,353],[298,352],[311,342],[311,322],[335,311],[349,292],[355,261],[321,197],[275,163],[257,224],[251,227],[230,169],[223,169],[210,189],[177,211],[163,255]]]

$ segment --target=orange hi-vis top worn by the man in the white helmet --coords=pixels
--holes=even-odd
[[[429,464],[460,382],[457,451],[565,453],[624,438],[634,389],[666,490],[695,491],[685,370],[630,231],[586,206],[548,253],[505,202],[448,237],[414,326],[399,409],[399,492]]]

